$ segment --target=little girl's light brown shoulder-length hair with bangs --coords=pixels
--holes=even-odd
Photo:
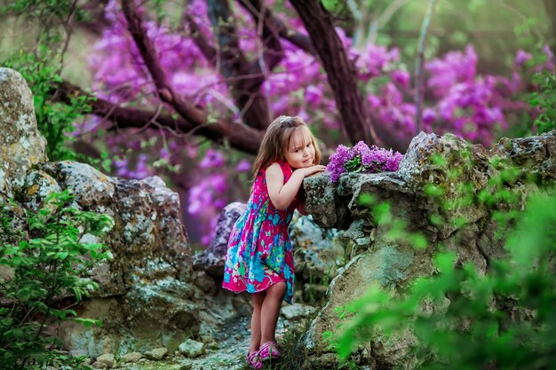
[[[257,177],[258,172],[261,169],[266,169],[272,162],[285,161],[284,153],[290,144],[290,138],[293,133],[301,127],[305,127],[309,132],[311,142],[314,146],[313,164],[319,164],[321,162],[321,150],[319,149],[313,133],[308,129],[306,122],[304,122],[301,117],[281,115],[268,126],[268,129],[266,129],[265,137],[258,148],[257,158],[253,163],[254,177]]]

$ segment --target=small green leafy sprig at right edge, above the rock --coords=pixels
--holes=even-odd
[[[544,71],[534,75],[539,91],[532,94],[529,104],[539,109],[540,114],[533,123],[539,133],[556,129],[556,75]]]

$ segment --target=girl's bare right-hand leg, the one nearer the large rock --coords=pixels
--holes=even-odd
[[[278,322],[280,306],[285,295],[286,283],[283,281],[273,284],[266,289],[266,296],[260,311],[260,344],[275,341],[276,323]]]

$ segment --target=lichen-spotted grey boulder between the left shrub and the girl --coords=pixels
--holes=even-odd
[[[123,180],[107,177],[91,166],[73,161],[49,162],[41,169],[60,187],[75,193],[80,209],[104,213],[115,220],[105,242],[115,259],[98,272],[99,295],[120,295],[131,283],[131,272],[156,279],[187,275],[191,251],[179,221],[179,196],[160,177]],[[160,263],[158,263],[160,262]]]

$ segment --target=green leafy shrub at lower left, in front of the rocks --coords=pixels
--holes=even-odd
[[[48,335],[45,327],[52,321],[68,319],[99,324],[76,318],[76,311],[70,309],[73,304],[66,304],[68,297],[79,302],[98,287],[90,278],[91,269],[112,255],[103,244],[91,240],[110,230],[114,222],[108,216],[76,209],[73,200],[68,191],[53,193],[42,209],[26,211],[28,232],[13,232],[17,230],[13,213],[16,206],[2,207],[0,266],[8,272],[0,279],[2,368],[80,368],[79,359],[55,350],[59,341]]]

